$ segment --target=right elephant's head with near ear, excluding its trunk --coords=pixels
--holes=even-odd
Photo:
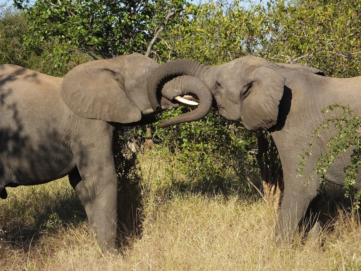
[[[242,119],[244,127],[253,131],[266,130],[277,122],[286,78],[269,63],[245,56],[209,70],[207,82],[223,117]]]

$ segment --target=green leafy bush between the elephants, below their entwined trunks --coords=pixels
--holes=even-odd
[[[187,112],[186,107],[164,111],[158,117],[169,119]],[[177,166],[169,171],[188,176],[190,183],[215,182],[234,178],[232,165],[240,171],[249,171],[254,166],[250,154],[255,149],[256,137],[239,125],[227,121],[212,110],[199,121],[183,123],[168,128],[138,126],[132,134],[125,134],[122,142],[132,140],[138,146],[144,144],[147,129],[156,148],[167,147],[177,159]],[[138,135],[138,136],[135,136]]]

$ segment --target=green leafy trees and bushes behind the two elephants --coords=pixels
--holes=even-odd
[[[209,65],[251,54],[314,66],[329,76],[360,75],[361,4],[356,0],[274,0],[249,8],[240,0],[199,5],[186,0],[14,0],[14,5],[20,13],[8,10],[0,17],[0,63],[54,76],[85,61],[132,52],[158,63],[186,57]],[[168,129],[139,126],[123,139],[142,145],[149,138],[177,153],[195,179],[222,179],[233,169],[255,165],[255,135],[215,111]]]

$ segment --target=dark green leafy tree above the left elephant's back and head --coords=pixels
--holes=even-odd
[[[164,21],[168,8],[181,10],[185,1],[35,1],[22,7],[30,24],[24,45],[30,50],[42,47],[44,40],[54,43],[51,56],[55,66],[69,59],[71,51],[82,50],[109,58],[147,50],[154,29]],[[176,20],[176,17],[175,19]],[[169,25],[174,23],[169,21]],[[55,47],[54,47],[55,48]],[[68,55],[68,57],[65,57]]]

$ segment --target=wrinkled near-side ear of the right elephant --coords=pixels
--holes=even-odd
[[[278,104],[286,78],[271,68],[260,66],[248,79],[251,88],[242,102],[243,125],[252,131],[266,130],[277,122]]]

